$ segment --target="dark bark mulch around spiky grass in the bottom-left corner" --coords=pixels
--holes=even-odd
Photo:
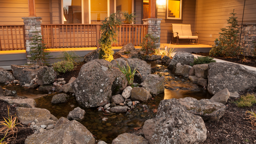
[[[0,121],[4,121],[4,118],[9,118],[8,117],[8,108],[7,106],[9,106],[9,104],[7,104],[4,101],[0,100]],[[11,115],[16,115],[16,109],[15,107],[10,106],[9,109],[9,114]],[[18,123],[20,123],[20,121],[18,121]],[[23,127],[22,127],[23,126]],[[18,131],[17,131],[17,138],[15,140],[12,141],[7,141],[8,138],[11,138],[11,136],[5,138],[3,141],[6,141],[8,144],[24,144],[25,139],[29,136],[32,135],[34,132],[32,129],[30,129],[29,127],[27,127],[27,125],[22,124],[21,125],[17,125]],[[0,125],[0,128],[2,128],[3,126]],[[0,140],[4,137],[5,134],[0,134]],[[16,134],[14,135],[16,137]],[[2,142],[3,142],[2,141]]]

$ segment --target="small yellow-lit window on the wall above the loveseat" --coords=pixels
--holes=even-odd
[[[166,18],[181,20],[182,0],[167,0]]]

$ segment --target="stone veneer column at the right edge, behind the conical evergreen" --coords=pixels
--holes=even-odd
[[[241,24],[239,26],[239,39],[241,32]],[[241,51],[244,52],[246,56],[254,56],[254,44],[253,41],[256,42],[256,23],[245,23],[243,24],[242,34],[241,34]]]

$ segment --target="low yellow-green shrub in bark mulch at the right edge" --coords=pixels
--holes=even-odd
[[[251,107],[256,103],[254,94],[241,95],[239,102],[236,104],[237,107]]]

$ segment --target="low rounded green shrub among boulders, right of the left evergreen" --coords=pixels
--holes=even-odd
[[[52,67],[56,72],[65,73],[68,71],[72,71],[74,69],[74,64],[70,61],[62,60],[58,63],[54,63]]]

